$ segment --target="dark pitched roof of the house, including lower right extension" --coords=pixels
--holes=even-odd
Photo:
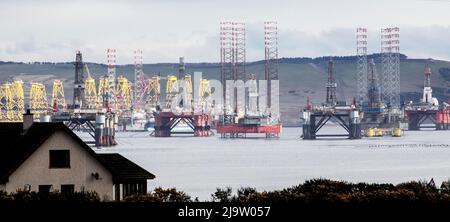
[[[56,131],[63,131],[78,142],[112,173],[113,181],[155,178],[120,154],[95,153],[63,123],[35,122],[26,131],[23,131],[22,123],[0,123],[0,184],[8,182],[9,176]]]

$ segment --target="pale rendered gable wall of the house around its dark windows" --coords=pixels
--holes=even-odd
[[[49,150],[70,150],[70,168],[49,168]],[[98,172],[96,180],[91,174]],[[103,200],[112,200],[112,174],[92,157],[81,145],[63,131],[57,131],[45,141],[22,165],[17,168],[6,183],[7,192],[23,190],[31,185],[38,191],[39,185],[52,185],[61,190],[61,184],[75,185],[75,191],[96,191]]]

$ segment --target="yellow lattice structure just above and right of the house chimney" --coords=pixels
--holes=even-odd
[[[32,83],[30,89],[30,108],[35,117],[47,114],[48,111],[47,93],[45,85],[42,83]]]

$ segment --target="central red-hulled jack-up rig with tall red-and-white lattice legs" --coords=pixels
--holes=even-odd
[[[215,127],[221,137],[265,134],[270,138],[281,132],[277,22],[264,22],[264,33],[265,79],[257,81],[256,75],[245,71],[245,23],[220,24],[223,113]]]

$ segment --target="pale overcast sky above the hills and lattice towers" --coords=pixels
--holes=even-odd
[[[0,0],[0,60],[119,64],[219,61],[219,23],[247,24],[247,61],[264,58],[263,22],[278,21],[279,57],[352,55],[367,27],[369,53],[382,27],[399,26],[401,52],[450,60],[450,0]]]

